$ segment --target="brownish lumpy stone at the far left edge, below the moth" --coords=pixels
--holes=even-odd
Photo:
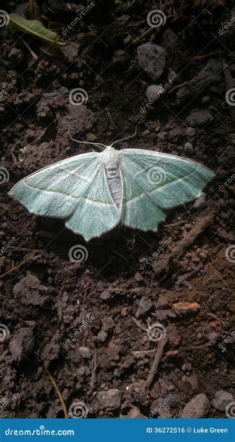
[[[34,336],[31,328],[22,327],[15,333],[14,339],[9,343],[12,360],[20,362],[32,352]]]

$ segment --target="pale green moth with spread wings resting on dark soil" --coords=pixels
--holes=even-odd
[[[166,209],[197,198],[214,176],[195,161],[151,150],[116,150],[115,143],[87,143],[105,150],[44,167],[9,195],[33,214],[65,220],[89,241],[118,224],[156,232]]]

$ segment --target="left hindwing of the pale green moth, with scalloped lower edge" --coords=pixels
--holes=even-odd
[[[92,184],[65,225],[89,241],[108,232],[119,221],[120,214],[108,187],[104,163],[101,163]]]

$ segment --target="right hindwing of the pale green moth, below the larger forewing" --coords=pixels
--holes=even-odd
[[[123,200],[121,223],[140,230],[157,231],[167,213],[159,207],[121,164]]]

